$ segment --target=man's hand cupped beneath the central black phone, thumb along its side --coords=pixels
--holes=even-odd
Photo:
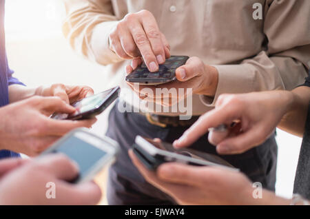
[[[138,66],[134,61],[133,66],[126,67],[127,74],[130,74]],[[191,57],[185,65],[176,69],[176,79],[178,81],[156,86],[128,84],[139,97],[147,101],[153,101],[160,105],[174,105],[190,94],[214,96],[218,86],[218,71],[215,67],[205,65],[198,57]],[[192,89],[192,92],[188,93],[188,88]],[[156,89],[162,90],[163,95],[156,96]]]

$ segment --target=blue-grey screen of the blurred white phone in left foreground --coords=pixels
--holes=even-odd
[[[87,141],[83,138],[87,138]],[[63,141],[59,147],[56,147],[52,153],[63,153],[71,160],[74,160],[79,165],[79,176],[75,180],[79,180],[79,178],[87,176],[92,167],[104,156],[107,156],[107,152],[94,146],[103,144],[98,141],[90,138],[90,136],[83,136],[83,133],[74,134]]]

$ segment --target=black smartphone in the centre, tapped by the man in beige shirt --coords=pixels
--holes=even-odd
[[[159,65],[158,72],[149,72],[145,63],[137,67],[134,72],[125,78],[130,83],[140,83],[142,85],[160,85],[176,80],[176,69],[185,65],[189,56],[171,56],[163,65]]]

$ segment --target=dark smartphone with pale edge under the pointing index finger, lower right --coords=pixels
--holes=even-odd
[[[195,149],[174,149],[172,144],[158,143],[152,139],[136,136],[133,145],[133,152],[141,160],[147,169],[154,170],[159,165],[167,162],[186,163],[196,166],[214,166],[223,167],[233,171],[239,171],[226,160],[208,154],[199,152]]]

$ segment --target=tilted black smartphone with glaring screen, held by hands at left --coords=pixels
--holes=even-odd
[[[83,120],[93,118],[101,114],[101,112],[118,98],[120,90],[120,87],[113,87],[99,94],[83,98],[72,104],[72,106],[76,108],[76,112],[73,114],[53,114],[51,118],[60,120]]]

